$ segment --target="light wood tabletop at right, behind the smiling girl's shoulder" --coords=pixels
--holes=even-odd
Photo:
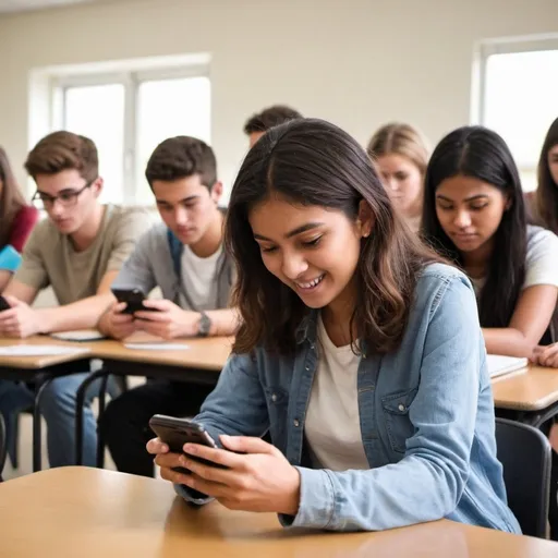
[[[558,401],[558,369],[529,366],[493,380],[495,407],[541,411]]]

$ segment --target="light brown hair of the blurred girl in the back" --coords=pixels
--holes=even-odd
[[[410,124],[392,122],[381,126],[366,148],[373,158],[383,155],[401,155],[414,162],[424,177],[428,165],[429,148],[424,136]]]

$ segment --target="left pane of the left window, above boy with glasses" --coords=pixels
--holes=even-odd
[[[122,204],[124,86],[108,84],[65,89],[64,128],[95,142],[99,153],[99,174],[105,179],[100,199]]]

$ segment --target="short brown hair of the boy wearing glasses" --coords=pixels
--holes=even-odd
[[[75,169],[87,183],[99,175],[99,157],[92,140],[72,132],[59,131],[45,136],[31,150],[25,170],[33,179],[38,174],[58,174]]]

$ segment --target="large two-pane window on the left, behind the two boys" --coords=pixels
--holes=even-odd
[[[174,135],[210,142],[206,68],[65,75],[54,87],[53,128],[95,142],[104,202],[151,205],[144,173],[157,144]]]

